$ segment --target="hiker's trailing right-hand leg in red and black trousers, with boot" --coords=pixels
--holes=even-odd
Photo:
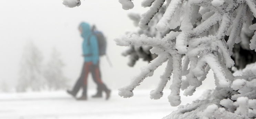
[[[110,90],[107,88],[107,86],[102,82],[101,76],[100,76],[100,70],[99,70],[99,65],[93,65],[92,68],[90,69],[93,75],[93,80],[98,86],[98,95],[102,95],[102,91],[105,91],[107,96],[106,99],[109,98],[110,96]],[[97,95],[96,94],[96,95]],[[98,96],[95,96],[98,97]]]

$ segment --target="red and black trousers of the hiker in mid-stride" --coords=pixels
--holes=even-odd
[[[99,65],[94,65],[92,62],[84,62],[81,75],[76,81],[76,84],[72,90],[74,95],[76,95],[79,89],[82,87],[83,96],[87,96],[87,78],[90,72],[92,73],[94,82],[97,84],[97,93],[101,94],[102,91],[108,90],[106,85],[102,82]]]

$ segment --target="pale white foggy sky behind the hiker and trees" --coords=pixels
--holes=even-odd
[[[128,67],[127,58],[120,56],[125,47],[116,46],[113,41],[126,31],[137,29],[127,13],[145,12],[147,9],[140,6],[141,1],[134,0],[135,8],[125,11],[118,0],[81,0],[81,6],[76,8],[65,7],[62,0],[0,0],[0,80],[9,83],[17,80],[23,47],[33,41],[42,51],[44,61],[53,47],[60,51],[66,64],[64,73],[74,82],[83,63],[82,38],[77,27],[86,21],[96,24],[108,38],[108,54],[114,67],[109,67],[105,57],[101,58],[103,80],[113,88],[121,87],[147,64],[139,62],[135,68]],[[157,83],[163,69],[147,80]]]

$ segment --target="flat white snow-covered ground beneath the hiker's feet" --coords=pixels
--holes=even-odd
[[[169,105],[169,90],[159,100],[149,98],[150,90],[135,90],[129,99],[112,91],[110,100],[76,101],[65,91],[0,94],[0,119],[161,119],[177,107]],[[94,91],[89,91],[92,95]],[[191,103],[194,96],[182,96],[182,104]]]

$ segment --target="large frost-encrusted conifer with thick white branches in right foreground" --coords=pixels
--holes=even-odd
[[[155,32],[170,32],[164,37],[126,35],[116,39],[116,42],[121,46],[150,46],[150,52],[159,55],[156,59],[162,59],[163,54],[168,54],[165,59],[168,60],[166,70],[160,77],[157,88],[151,91],[150,98],[162,97],[163,88],[173,74],[168,99],[172,106],[178,106],[181,102],[180,89],[185,90],[184,95],[191,96],[202,85],[209,70],[214,72],[216,89],[209,96],[209,100],[181,106],[166,118],[256,117],[256,68],[252,65],[247,67],[241,76],[233,75],[228,69],[238,62],[234,62],[232,57],[236,56],[235,59],[238,59],[237,54],[233,54],[237,52],[236,45],[256,49],[255,3],[254,0],[143,1],[143,7],[151,8],[142,15],[140,27],[147,28],[151,18],[159,13],[159,9],[166,7],[163,16],[158,16],[154,27],[158,30]],[[183,62],[181,56],[184,56]],[[159,63],[162,62],[161,60]],[[152,62],[149,66],[158,66],[159,63]],[[141,73],[140,76],[147,73]],[[181,76],[185,78],[181,79]],[[119,94],[131,97],[133,94],[130,92],[142,81],[138,80],[137,83],[129,85],[129,88],[122,88]],[[249,104],[253,106],[250,107]]]

